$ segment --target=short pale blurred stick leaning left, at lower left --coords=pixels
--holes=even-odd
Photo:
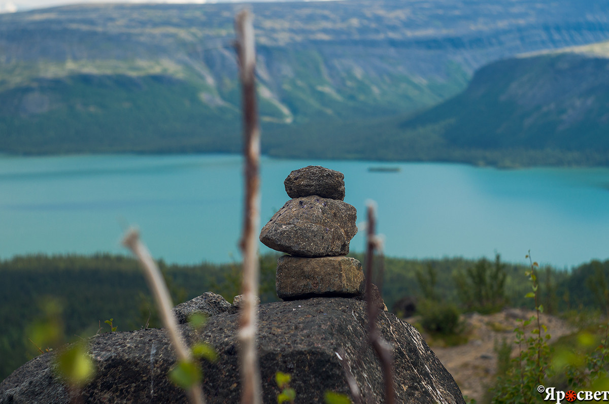
[[[171,296],[169,296],[169,291],[167,290],[167,285],[165,285],[163,280],[163,275],[161,275],[161,271],[159,271],[157,264],[150,256],[150,252],[146,246],[139,241],[138,231],[135,229],[128,230],[127,234],[122,239],[122,244],[133,252],[133,255],[138,258],[139,265],[144,270],[144,277],[146,277],[148,287],[150,288],[150,291],[152,291],[152,296],[157,302],[157,307],[161,314],[161,321],[167,330],[172,346],[174,346],[175,355],[178,357],[178,361],[191,361],[192,356],[190,350],[182,341],[180,331],[178,331],[178,324],[175,321],[174,315],[171,313],[173,305],[171,303]],[[191,402],[195,404],[205,403],[201,386],[191,386],[191,388],[188,389],[188,394]]]

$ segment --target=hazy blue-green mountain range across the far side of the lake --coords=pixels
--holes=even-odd
[[[0,152],[239,151],[233,18],[241,7],[97,4],[0,15]],[[605,147],[605,58],[577,47],[609,39],[607,0],[252,8],[269,155],[510,166],[552,163],[551,153],[560,163],[568,152],[573,163],[604,164],[602,152],[590,154]],[[571,92],[554,99],[565,78]],[[572,134],[582,130],[583,143]],[[510,153],[530,158],[505,160]]]

